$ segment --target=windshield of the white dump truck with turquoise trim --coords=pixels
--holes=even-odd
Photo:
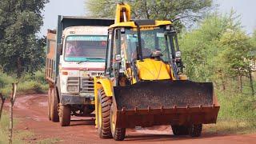
[[[66,38],[65,61],[105,62],[107,36],[71,35]]]

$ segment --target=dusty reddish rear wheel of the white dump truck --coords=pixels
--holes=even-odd
[[[57,90],[54,88],[50,94],[50,119],[52,122],[58,122],[58,98]]]

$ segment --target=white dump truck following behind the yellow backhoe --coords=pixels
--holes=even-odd
[[[111,19],[59,16],[57,30],[48,30],[46,80],[48,117],[70,126],[74,116],[93,116],[94,76],[104,74]]]

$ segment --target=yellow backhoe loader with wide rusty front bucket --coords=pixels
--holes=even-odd
[[[215,123],[219,105],[211,82],[182,74],[177,34],[170,21],[130,20],[119,3],[108,32],[105,75],[94,78],[96,128],[122,141],[126,128],[170,125],[175,135],[198,137]]]

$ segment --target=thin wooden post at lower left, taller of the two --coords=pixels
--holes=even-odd
[[[14,102],[16,98],[16,90],[17,90],[17,82],[13,83],[13,91],[10,95],[10,127],[9,127],[9,144],[12,144],[12,137],[13,137],[13,110],[14,110]]]

